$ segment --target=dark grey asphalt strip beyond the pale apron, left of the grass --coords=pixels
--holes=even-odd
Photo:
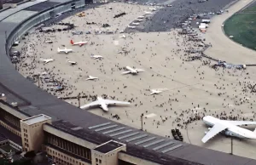
[[[198,3],[198,0],[176,0],[171,8],[160,9],[147,21],[139,31],[170,31],[186,20],[190,15],[217,12],[235,0],[208,0]],[[158,2],[156,2],[158,3]],[[160,1],[162,3],[162,1]]]

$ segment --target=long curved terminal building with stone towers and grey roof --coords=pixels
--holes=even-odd
[[[56,164],[67,165],[256,164],[82,111],[22,77],[9,60],[12,44],[52,13],[90,8],[87,3],[40,0],[0,12],[0,151],[6,145],[23,152],[44,151]]]

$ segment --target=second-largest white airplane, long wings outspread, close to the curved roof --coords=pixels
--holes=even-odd
[[[124,102],[124,101],[117,101],[117,100],[104,100],[102,97],[97,97],[96,101],[91,102],[88,105],[83,105],[80,106],[81,109],[87,109],[93,106],[98,106],[102,108],[104,111],[108,111],[108,105],[130,105],[131,103],[129,102]]]

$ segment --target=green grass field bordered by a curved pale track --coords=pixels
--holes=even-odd
[[[256,4],[234,14],[225,21],[224,31],[236,43],[256,50]]]

